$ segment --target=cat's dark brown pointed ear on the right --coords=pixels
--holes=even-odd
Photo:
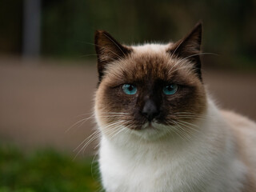
[[[187,58],[194,64],[194,70],[198,78],[202,80],[201,74],[201,41],[202,41],[202,22],[198,22],[190,34],[182,38],[167,50],[173,57]]]

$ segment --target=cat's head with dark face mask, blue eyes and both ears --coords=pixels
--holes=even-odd
[[[190,129],[206,110],[201,38],[201,23],[166,45],[124,46],[96,31],[95,115],[103,134],[159,138]]]

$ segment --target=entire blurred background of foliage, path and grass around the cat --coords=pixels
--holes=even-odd
[[[199,20],[204,52],[218,54],[202,57],[210,94],[256,120],[254,0],[0,0],[0,192],[100,190],[97,142],[82,143],[95,126],[94,31],[170,42]]]

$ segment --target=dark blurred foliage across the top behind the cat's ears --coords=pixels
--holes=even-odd
[[[21,42],[17,40],[22,37],[21,2],[0,2],[1,27],[9,27],[0,35],[0,45]],[[223,65],[256,66],[254,0],[42,0],[42,55],[88,58],[94,54],[97,29],[107,30],[127,44],[176,41],[200,19],[205,52],[222,55],[218,62]],[[4,35],[9,40],[3,40]],[[0,51],[3,48],[0,46]]]

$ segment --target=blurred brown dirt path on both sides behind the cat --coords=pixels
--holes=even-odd
[[[75,122],[90,117],[97,84],[95,66],[74,64],[44,61],[34,65],[32,61],[29,65],[0,58],[2,141],[27,150],[54,146],[72,153],[89,136],[94,126],[91,121],[66,132]],[[206,85],[220,106],[256,120],[255,74],[204,72]]]

